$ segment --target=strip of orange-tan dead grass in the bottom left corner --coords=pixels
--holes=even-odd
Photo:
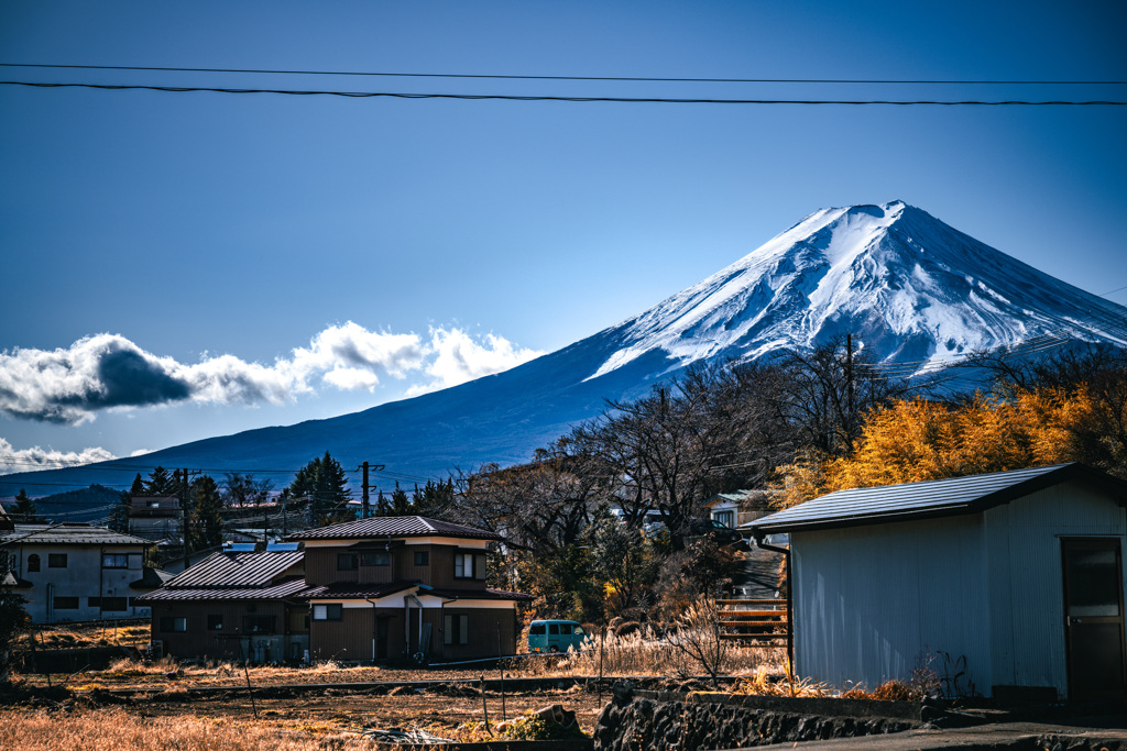
[[[354,734],[317,736],[300,730],[266,727],[228,718],[145,717],[123,709],[59,713],[0,712],[0,748],[7,751],[312,751],[372,749]]]

